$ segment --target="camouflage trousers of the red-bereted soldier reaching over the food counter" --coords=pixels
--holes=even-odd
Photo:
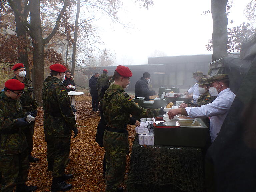
[[[128,134],[105,130],[103,142],[106,152],[106,192],[115,192],[124,180],[126,155],[129,154]]]

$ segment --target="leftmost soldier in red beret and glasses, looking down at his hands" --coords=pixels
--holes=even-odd
[[[24,84],[10,79],[5,82],[4,91],[0,94],[0,169],[2,176],[1,192],[35,191],[36,186],[27,186],[28,152],[23,128],[30,123],[25,119],[20,97]],[[34,114],[32,114],[33,116]]]

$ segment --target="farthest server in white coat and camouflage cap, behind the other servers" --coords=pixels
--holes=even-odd
[[[187,98],[192,99],[193,103],[197,103],[197,99],[200,96],[200,93],[198,91],[198,81],[200,79],[200,77],[203,77],[203,72],[201,71],[196,71],[195,73],[193,73],[193,77],[195,79],[196,84],[193,85],[189,90],[187,90],[184,95],[188,95]]]

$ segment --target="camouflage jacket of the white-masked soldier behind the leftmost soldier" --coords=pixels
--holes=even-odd
[[[12,79],[17,79],[16,75]],[[21,95],[20,100],[23,106],[23,112],[35,111],[38,108],[38,104],[34,95],[34,88],[32,81],[25,77],[24,93]]]

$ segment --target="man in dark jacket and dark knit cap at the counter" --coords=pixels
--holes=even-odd
[[[150,82],[150,74],[148,72],[143,73],[140,80],[138,80],[135,84],[135,97],[145,97],[145,99],[149,99],[150,96],[156,95],[156,92],[153,90],[149,90],[148,83]]]

